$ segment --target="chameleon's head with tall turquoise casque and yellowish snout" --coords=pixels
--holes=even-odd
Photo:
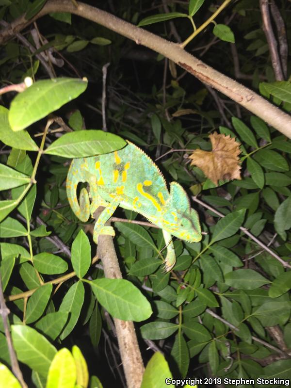
[[[199,242],[202,239],[198,214],[191,209],[186,192],[177,182],[170,185],[170,196],[165,209],[163,229],[188,242]]]

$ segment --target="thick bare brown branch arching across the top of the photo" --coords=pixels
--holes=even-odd
[[[84,3],[79,3],[78,8],[76,8],[70,0],[49,0],[42,10],[31,20],[25,20],[25,17],[21,16],[11,23],[9,28],[1,31],[0,43],[14,37],[17,32],[27,27],[34,20],[47,15],[50,12],[70,12],[79,15],[124,35],[139,45],[146,46],[161,53],[194,75],[200,81],[205,82],[222,92],[250,112],[262,118],[266,123],[291,138],[291,116],[289,114],[280,111],[277,107],[252,90],[204,64],[182,49],[178,44],[162,39],[151,32],[147,32],[116,16]]]

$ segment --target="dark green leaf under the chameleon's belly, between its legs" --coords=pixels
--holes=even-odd
[[[127,224],[125,222],[115,222],[114,226],[140,248],[151,248],[158,251],[152,238],[143,226]]]

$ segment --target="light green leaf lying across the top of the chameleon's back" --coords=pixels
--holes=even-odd
[[[126,146],[126,141],[113,133],[87,129],[65,133],[55,140],[44,153],[64,158],[81,158],[106,154]]]

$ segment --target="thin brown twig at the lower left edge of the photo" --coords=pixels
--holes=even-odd
[[[7,341],[12,371],[15,374],[18,381],[20,382],[21,387],[27,388],[27,385],[25,384],[25,381],[24,381],[23,376],[22,376],[22,372],[20,371],[20,368],[19,368],[19,364],[17,361],[16,353],[15,353],[15,350],[13,347],[12,338],[11,338],[11,334],[10,334],[10,330],[9,330],[8,315],[10,313],[10,310],[7,308],[5,300],[4,300],[1,274],[0,274],[0,308],[1,308],[0,313],[2,316],[2,320],[3,320],[3,326],[4,326],[5,337],[6,337],[6,341]]]

